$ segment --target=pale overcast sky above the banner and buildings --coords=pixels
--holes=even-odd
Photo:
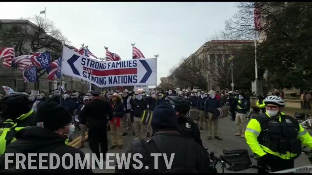
[[[70,41],[82,43],[97,57],[105,57],[104,46],[121,59],[131,59],[132,46],[145,58],[159,54],[160,77],[182,57],[188,57],[207,37],[224,29],[224,21],[235,14],[236,2],[0,2],[0,19],[33,17],[45,10]],[[41,14],[44,17],[44,14]]]

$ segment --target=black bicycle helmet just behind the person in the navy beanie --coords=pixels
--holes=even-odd
[[[191,103],[188,99],[178,96],[168,96],[167,98],[170,101],[170,104],[173,105],[175,111],[181,114],[186,114],[190,111]]]

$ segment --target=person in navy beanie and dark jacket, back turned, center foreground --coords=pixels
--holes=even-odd
[[[121,169],[116,168],[116,173],[211,173],[205,149],[194,140],[183,138],[179,133],[176,111],[172,105],[161,103],[156,106],[151,125],[152,137],[135,139],[130,151],[127,152],[130,155],[135,153],[142,155],[143,168],[135,168],[133,165],[138,164],[134,161],[134,156],[131,156],[129,168],[125,168],[123,164]],[[156,156],[155,158],[150,156],[151,153],[174,154],[171,168],[167,169],[163,156],[157,156],[156,168]]]

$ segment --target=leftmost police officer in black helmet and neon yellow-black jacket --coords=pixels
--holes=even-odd
[[[29,95],[25,92],[12,92],[1,100],[2,117],[5,119],[0,134],[0,154],[3,154],[6,146],[15,141],[15,133],[26,126],[36,126],[35,113],[30,108]]]

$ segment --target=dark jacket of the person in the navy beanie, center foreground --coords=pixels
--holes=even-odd
[[[166,153],[167,158],[174,153],[174,158],[171,168],[183,167],[185,164],[188,167],[195,169],[198,173],[211,173],[208,165],[207,152],[194,140],[183,138],[178,131],[158,131],[154,136],[147,138],[147,140],[152,139],[152,142],[148,144],[155,144],[158,150],[155,150],[156,153]],[[125,169],[123,166],[120,170],[117,168],[116,173],[161,173],[167,170],[165,163],[160,162],[158,157],[158,169],[154,169],[154,157],[150,156],[150,153],[144,148],[144,142],[139,139],[133,141],[133,145],[127,153],[131,155],[139,153],[143,158],[138,158],[143,163],[143,168],[135,169],[132,167],[132,164],[136,164],[133,160],[133,157],[130,158],[129,169]],[[128,154],[126,154],[128,156]],[[149,169],[145,169],[145,166],[149,166]]]

